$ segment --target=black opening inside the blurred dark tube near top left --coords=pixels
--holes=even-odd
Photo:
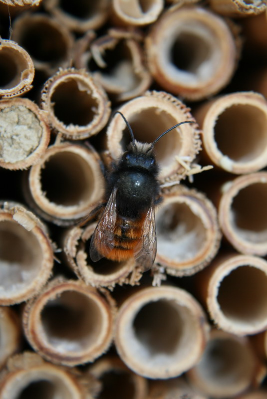
[[[59,62],[66,57],[67,48],[63,34],[49,20],[24,21],[19,44],[36,60]]]

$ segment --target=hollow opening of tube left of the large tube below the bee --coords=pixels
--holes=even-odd
[[[75,291],[64,291],[49,300],[42,309],[41,321],[48,343],[71,353],[94,345],[102,329],[97,303]]]

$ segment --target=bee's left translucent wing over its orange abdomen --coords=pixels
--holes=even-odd
[[[113,248],[114,227],[116,224],[116,193],[113,189],[105,210],[94,230],[90,243],[90,257],[93,262],[105,257]]]

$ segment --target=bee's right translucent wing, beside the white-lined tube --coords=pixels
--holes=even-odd
[[[146,214],[140,243],[135,249],[135,259],[144,271],[150,269],[154,263],[157,253],[157,236],[154,202]]]

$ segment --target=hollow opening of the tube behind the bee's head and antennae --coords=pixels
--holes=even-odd
[[[130,117],[128,122],[135,139],[143,143],[152,143],[163,132],[177,124],[172,115],[156,107],[138,110],[138,114]],[[170,160],[181,151],[182,139],[179,132],[181,132],[180,128],[174,129],[155,145],[156,157],[162,167],[169,165]],[[124,151],[130,141],[129,131],[125,128],[120,143]]]

